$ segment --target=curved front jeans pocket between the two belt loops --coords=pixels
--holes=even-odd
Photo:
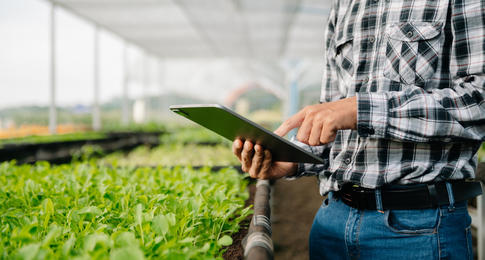
[[[436,233],[439,218],[438,209],[388,210],[385,224],[398,234],[427,235]]]

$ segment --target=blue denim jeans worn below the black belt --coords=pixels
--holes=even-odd
[[[450,201],[437,209],[358,210],[330,193],[311,227],[310,259],[472,260],[467,201],[455,203],[453,194]]]

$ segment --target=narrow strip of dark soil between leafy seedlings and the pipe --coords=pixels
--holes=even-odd
[[[244,208],[248,207],[249,205],[254,204],[254,195],[256,194],[256,186],[250,185],[249,188],[249,199],[246,200]],[[227,249],[227,251],[222,255],[222,258],[225,260],[242,260],[242,240],[246,237],[247,232],[249,231],[249,223],[253,218],[253,214],[250,214],[244,219],[239,225],[241,228],[237,233],[232,234],[232,244],[229,246],[224,246],[223,249]]]

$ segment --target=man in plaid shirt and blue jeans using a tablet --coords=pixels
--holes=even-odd
[[[326,35],[322,103],[275,131],[300,127],[294,142],[326,163],[236,140],[243,170],[318,177],[311,259],[472,259],[458,186],[485,139],[485,0],[337,0]]]

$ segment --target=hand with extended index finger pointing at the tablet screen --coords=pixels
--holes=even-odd
[[[357,97],[307,106],[286,119],[275,134],[284,136],[299,126],[296,139],[304,144],[321,146],[333,142],[337,130],[357,129]]]

